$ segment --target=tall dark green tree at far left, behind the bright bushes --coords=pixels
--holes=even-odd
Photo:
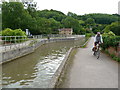
[[[31,15],[24,9],[20,2],[3,2],[2,4],[2,29],[29,28]]]

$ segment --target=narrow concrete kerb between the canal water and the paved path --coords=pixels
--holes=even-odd
[[[89,40],[90,40],[90,38],[83,45],[80,45],[80,46],[85,46],[88,43]],[[60,77],[60,75],[61,75],[62,71],[64,70],[64,67],[67,63],[69,55],[74,48],[79,48],[79,47],[71,47],[69,49],[69,51],[66,53],[66,56],[65,56],[64,60],[62,61],[61,65],[59,66],[59,68],[55,72],[54,76],[52,77],[52,80],[50,81],[50,84],[49,84],[48,88],[55,88],[55,85],[58,82],[58,79],[59,79],[59,77]]]

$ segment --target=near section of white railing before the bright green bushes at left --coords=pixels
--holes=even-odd
[[[0,52],[21,48],[29,43],[26,36],[0,36]]]

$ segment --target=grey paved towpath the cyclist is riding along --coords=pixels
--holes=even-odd
[[[118,88],[118,63],[105,54],[92,55],[93,38],[87,48],[79,48],[62,88]]]

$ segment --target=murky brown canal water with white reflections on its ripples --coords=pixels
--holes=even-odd
[[[3,88],[47,88],[52,76],[70,47],[81,45],[80,40],[61,41],[40,46],[32,54],[2,66]]]

